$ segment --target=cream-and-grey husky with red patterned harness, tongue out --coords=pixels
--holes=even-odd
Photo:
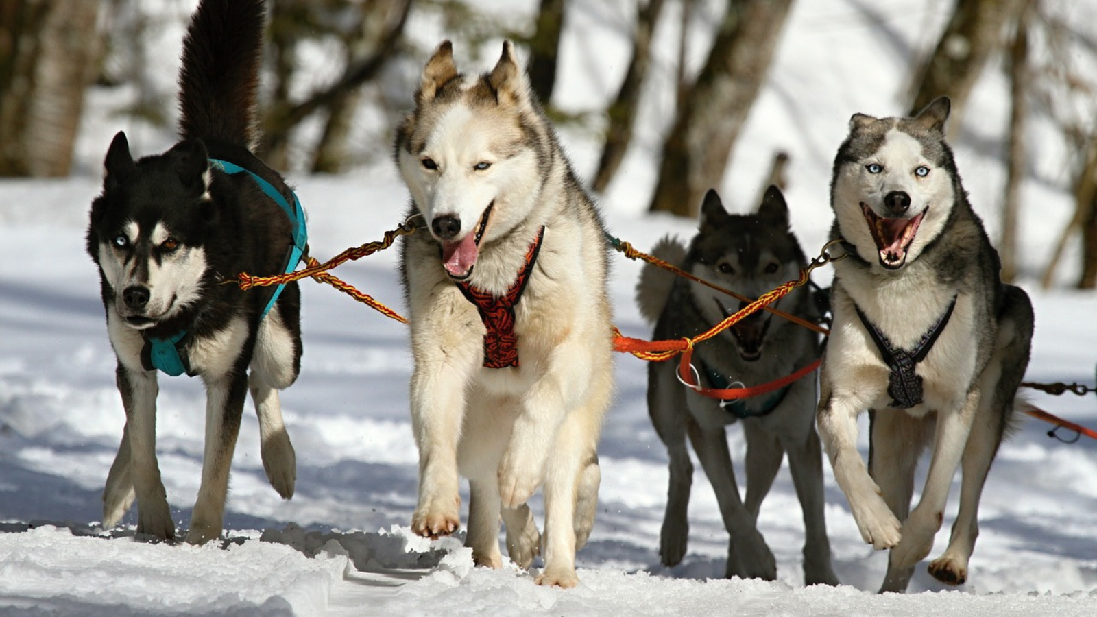
[[[490,72],[468,76],[442,43],[415,102],[395,147],[426,224],[402,255],[419,448],[411,527],[457,528],[460,473],[476,563],[501,565],[501,515],[510,558],[528,568],[543,549],[538,583],[569,587],[612,391],[602,224],[510,43]],[[527,506],[540,486],[543,545]]]

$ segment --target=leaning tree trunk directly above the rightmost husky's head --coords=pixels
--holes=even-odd
[[[1003,30],[1017,14],[1019,3],[1020,0],[957,0],[937,47],[912,85],[912,115],[934,99],[948,96],[954,119],[949,123],[950,132],[955,134],[972,87],[987,58],[1003,48]]]

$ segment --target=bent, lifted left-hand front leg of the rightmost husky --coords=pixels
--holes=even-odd
[[[869,404],[852,392],[832,390],[826,375],[822,382],[817,411],[819,437],[830,459],[834,478],[849,501],[861,538],[875,549],[890,549],[900,541],[901,525],[880,495],[880,486],[869,475],[857,451],[857,416]]]

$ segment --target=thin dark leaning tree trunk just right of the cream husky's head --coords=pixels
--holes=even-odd
[[[606,128],[606,144],[598,161],[598,171],[591,188],[596,192],[604,192],[617,173],[624,154],[632,142],[632,130],[636,122],[636,109],[640,106],[640,93],[647,79],[647,69],[652,64],[652,33],[659,21],[663,0],[648,0],[636,10],[636,31],[633,34],[632,60],[625,72],[624,81],[618,98],[610,105],[609,126]]]

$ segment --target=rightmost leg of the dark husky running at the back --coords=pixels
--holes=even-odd
[[[818,435],[812,428],[803,442],[787,442],[785,450],[789,452],[792,483],[804,513],[804,584],[837,585],[838,576],[830,560],[830,540],[826,535],[823,447]]]

